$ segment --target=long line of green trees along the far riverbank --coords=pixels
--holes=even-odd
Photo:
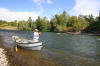
[[[18,30],[38,29],[42,32],[100,32],[100,13],[99,16],[91,15],[69,16],[66,11],[62,14],[54,15],[51,20],[45,16],[38,16],[36,20],[31,17],[27,21],[7,22],[0,20],[0,25],[16,26]]]

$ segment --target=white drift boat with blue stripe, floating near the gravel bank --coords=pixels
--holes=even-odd
[[[19,48],[41,50],[42,42],[34,42],[33,40],[20,39],[18,36],[12,36],[12,39],[16,42]]]

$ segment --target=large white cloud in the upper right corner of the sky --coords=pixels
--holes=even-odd
[[[75,0],[75,6],[69,12],[71,15],[89,15],[98,16],[100,10],[100,0]]]

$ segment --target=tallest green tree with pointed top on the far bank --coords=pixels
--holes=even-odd
[[[53,20],[51,21],[51,28],[53,31],[56,32],[66,32],[66,24],[69,21],[69,16],[67,15],[66,11],[64,11],[62,14],[58,15],[56,14]],[[56,24],[56,25],[54,25]]]

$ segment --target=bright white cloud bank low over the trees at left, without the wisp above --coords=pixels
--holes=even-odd
[[[36,19],[40,12],[12,12],[6,8],[0,8],[0,20],[13,21],[13,20],[28,20],[29,17]]]

